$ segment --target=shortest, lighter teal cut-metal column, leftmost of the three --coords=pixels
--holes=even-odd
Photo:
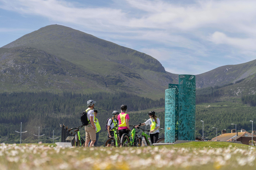
[[[165,90],[165,130],[164,142],[175,142],[175,89]]]

